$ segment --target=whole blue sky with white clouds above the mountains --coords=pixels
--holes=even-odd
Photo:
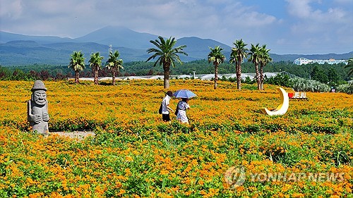
[[[353,51],[352,0],[0,0],[0,30],[82,37],[107,25],[232,46],[267,44],[275,54]]]

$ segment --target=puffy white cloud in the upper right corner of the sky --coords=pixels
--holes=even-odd
[[[290,30],[292,35],[301,37],[305,44],[331,44],[344,42],[353,42],[352,37],[352,13],[340,7],[313,8],[311,4],[321,3],[316,0],[287,0],[288,12],[297,18],[292,23]],[[347,32],[342,34],[342,30]],[[338,36],[340,35],[340,36]]]

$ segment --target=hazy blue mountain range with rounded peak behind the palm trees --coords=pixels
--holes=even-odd
[[[85,54],[86,62],[88,62],[91,53],[99,51],[104,56],[103,61],[106,61],[110,44],[112,44],[113,50],[119,50],[124,62],[145,61],[151,55],[147,54],[146,50],[155,47],[150,43],[150,40],[157,38],[157,35],[135,32],[126,27],[112,26],[103,27],[76,39],[18,35],[0,31],[0,64],[1,66],[22,66],[33,63],[68,65],[73,51],[82,51]],[[201,39],[198,37],[177,39],[177,46],[184,44],[186,45],[184,51],[189,56],[181,55],[182,61],[207,59],[210,52],[209,47],[222,47],[227,60],[231,51],[231,47],[213,39]],[[300,57],[309,59],[348,59],[353,57],[353,52],[315,55],[270,54],[270,56],[273,61],[294,61],[294,59]]]

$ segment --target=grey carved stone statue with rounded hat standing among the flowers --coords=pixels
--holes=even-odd
[[[28,121],[32,131],[42,135],[49,135],[47,88],[41,80],[36,80],[33,85],[32,95],[28,101]]]

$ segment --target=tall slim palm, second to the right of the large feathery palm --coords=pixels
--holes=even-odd
[[[247,44],[243,42],[243,39],[235,40],[233,44],[235,47],[232,48],[229,63],[235,63],[237,71],[237,89],[241,90],[241,63],[244,58],[248,56],[248,49],[245,48]]]

